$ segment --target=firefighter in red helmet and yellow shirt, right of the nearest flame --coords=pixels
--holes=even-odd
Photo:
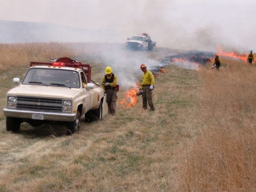
[[[150,107],[150,111],[154,111],[154,104],[152,100],[152,90],[154,89],[155,78],[153,74],[147,70],[147,66],[145,64],[140,65],[140,69],[142,70],[142,81],[140,85],[140,90],[142,92],[142,102],[143,102],[143,109],[147,110],[147,103]]]

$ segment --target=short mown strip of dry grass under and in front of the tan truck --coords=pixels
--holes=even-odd
[[[85,62],[93,60],[90,55],[83,57]],[[102,76],[104,61],[96,60],[94,74]],[[25,73],[25,67],[17,69],[19,76]],[[11,82],[15,71],[9,68],[2,73],[11,76],[3,83]],[[6,89],[12,86],[9,83]],[[153,113],[142,109],[139,98],[131,109],[117,105],[112,117],[105,103],[103,120],[82,122],[81,133],[71,137],[65,135],[64,126],[52,125],[34,128],[23,123],[19,133],[6,132],[2,114],[0,191],[172,190],[177,169],[173,150],[181,138],[191,137],[201,85],[196,71],[169,66],[156,79],[156,87]]]

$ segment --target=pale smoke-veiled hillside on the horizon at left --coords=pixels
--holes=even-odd
[[[0,20],[0,43],[118,42],[118,39],[121,39],[119,32],[110,29]]]

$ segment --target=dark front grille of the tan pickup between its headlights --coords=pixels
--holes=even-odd
[[[17,109],[62,112],[62,99],[18,96]]]

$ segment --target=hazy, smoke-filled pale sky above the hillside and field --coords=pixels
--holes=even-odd
[[[256,52],[255,0],[0,0],[0,20],[148,33],[158,46]]]

